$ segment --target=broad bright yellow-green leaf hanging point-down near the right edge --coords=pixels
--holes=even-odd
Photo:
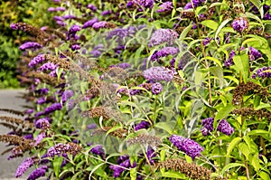
[[[241,55],[235,55],[233,56],[233,62],[236,65],[238,71],[243,76],[243,80],[246,83],[248,81],[248,68],[249,68],[249,62],[248,62],[248,54],[241,54]]]

